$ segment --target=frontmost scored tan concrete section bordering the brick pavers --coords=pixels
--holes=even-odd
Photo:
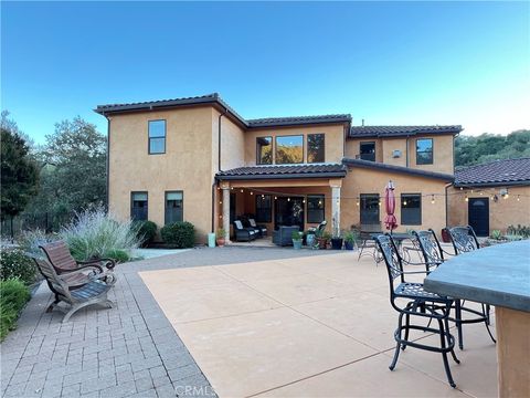
[[[287,307],[178,331],[220,397],[247,397],[377,354]]]

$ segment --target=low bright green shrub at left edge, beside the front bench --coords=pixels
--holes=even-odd
[[[17,279],[0,282],[0,341],[15,328],[19,314],[30,296],[30,290]]]

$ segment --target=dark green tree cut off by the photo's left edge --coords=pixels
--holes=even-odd
[[[38,191],[39,169],[15,124],[1,125],[1,217],[22,212]],[[6,115],[7,116],[7,115]],[[12,229],[11,229],[12,230]],[[12,231],[11,231],[12,232]]]

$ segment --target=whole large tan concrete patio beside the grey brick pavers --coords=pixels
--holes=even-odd
[[[457,389],[447,384],[439,354],[409,348],[389,370],[398,313],[389,302],[386,270],[371,258],[337,252],[205,269],[230,282],[216,283],[219,275],[209,271],[203,282],[191,271],[180,277],[184,270],[141,277],[221,397],[497,392],[495,345],[484,325],[464,326],[466,349],[457,350],[463,364],[452,364]],[[178,298],[170,286],[178,291],[182,281],[205,284],[183,286],[190,297]],[[436,343],[422,332],[412,337]]]

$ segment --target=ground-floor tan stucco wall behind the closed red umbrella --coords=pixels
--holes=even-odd
[[[404,174],[371,170],[363,168],[349,168],[349,172],[342,182],[341,189],[341,228],[347,229],[352,224],[360,223],[360,206],[357,206],[361,193],[379,193],[382,200],[380,208],[381,224],[384,218],[384,188],[389,180],[395,186],[395,217],[400,224],[398,232],[407,229],[432,228],[439,232],[445,227],[445,186],[442,180],[427,179]],[[422,224],[402,226],[401,223],[401,193],[422,193]],[[431,203],[432,195],[435,195],[435,203]],[[384,226],[382,224],[384,230]]]

